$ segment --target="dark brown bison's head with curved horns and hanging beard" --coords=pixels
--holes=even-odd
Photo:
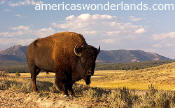
[[[95,61],[99,52],[100,46],[99,49],[91,45],[75,46],[74,48],[74,53],[79,57],[81,66],[85,70],[84,80],[87,85],[90,84],[90,78],[94,74]]]

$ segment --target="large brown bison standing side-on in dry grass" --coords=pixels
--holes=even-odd
[[[88,45],[81,34],[60,32],[36,39],[26,50],[27,62],[32,79],[32,90],[36,92],[36,77],[41,70],[55,73],[57,87],[74,95],[72,85],[81,79],[90,84],[94,74],[99,49]]]

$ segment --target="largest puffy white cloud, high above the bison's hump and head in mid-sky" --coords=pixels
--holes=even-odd
[[[142,34],[145,29],[140,25],[129,22],[121,22],[116,16],[100,14],[70,15],[65,18],[64,23],[52,23],[52,26],[65,31],[79,32],[86,36],[120,36],[131,37],[135,34]],[[100,37],[99,37],[100,38]],[[104,38],[103,38],[104,39]],[[102,40],[102,39],[101,39]]]

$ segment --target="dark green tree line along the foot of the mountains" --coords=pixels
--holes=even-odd
[[[155,67],[173,61],[147,61],[134,63],[96,63],[96,70],[138,70],[149,67]],[[29,72],[27,63],[0,64],[0,70],[9,73],[27,73]]]

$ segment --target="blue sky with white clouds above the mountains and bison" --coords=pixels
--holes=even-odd
[[[0,0],[0,49],[27,45],[56,32],[74,31],[102,49],[139,49],[175,58],[175,10],[36,11],[36,3],[94,3],[102,0]],[[121,0],[109,0],[120,3]],[[175,4],[174,0],[130,0],[138,4]]]

